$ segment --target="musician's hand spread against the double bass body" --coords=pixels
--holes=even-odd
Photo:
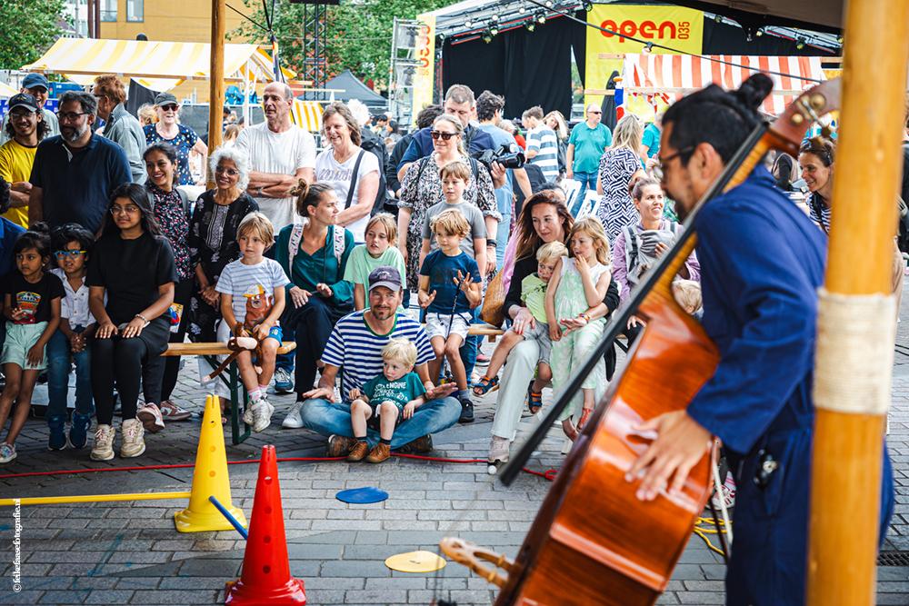
[[[625,473],[625,482],[641,479],[635,492],[641,501],[653,501],[664,490],[681,492],[688,473],[713,444],[710,432],[686,411],[666,412],[634,430],[657,433],[654,442]]]

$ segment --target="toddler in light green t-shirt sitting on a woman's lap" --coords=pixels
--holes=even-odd
[[[534,325],[524,327],[524,333],[515,333],[514,327],[505,331],[502,340],[495,346],[485,376],[474,384],[475,395],[484,395],[498,388],[499,378],[496,375],[515,345],[524,340],[536,341],[540,344],[540,358],[536,379],[530,388],[530,404],[532,410],[539,408],[543,401],[543,386],[553,378],[553,371],[549,366],[552,342],[549,340],[549,324],[546,323],[544,305],[546,286],[553,276],[555,263],[558,263],[558,260],[567,254],[568,249],[565,248],[565,245],[557,241],[544,244],[536,251],[536,273],[531,273],[521,281],[521,301],[534,315]]]

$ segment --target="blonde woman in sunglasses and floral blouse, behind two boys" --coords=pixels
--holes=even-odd
[[[433,147],[435,151],[425,158],[417,160],[407,168],[401,182],[401,201],[398,203],[398,247],[404,255],[407,267],[407,287],[416,291],[417,278],[420,273],[420,246],[423,243],[423,223],[426,211],[431,206],[445,201],[442,193],[442,179],[439,169],[445,164],[460,160],[471,167],[476,177],[470,180],[464,192],[464,202],[476,204],[486,219],[487,231],[490,221],[498,223],[499,214],[495,203],[493,180],[483,164],[469,158],[464,153],[464,126],[454,115],[442,114],[433,122]],[[507,229],[507,227],[504,227]],[[406,238],[404,237],[406,234]],[[487,254],[487,259],[495,261],[495,251]]]

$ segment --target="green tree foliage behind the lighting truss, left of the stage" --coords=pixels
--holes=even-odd
[[[244,2],[247,8],[254,10],[251,18],[256,23],[265,25],[261,1]],[[340,5],[328,6],[325,40],[320,41],[324,45],[326,77],[349,69],[364,80],[372,79],[379,86],[386,85],[394,17],[413,19],[416,15],[451,2],[452,0],[341,0]],[[282,65],[301,74],[304,71],[304,7],[305,5],[292,5],[287,0],[278,0],[272,24],[280,47]],[[312,15],[313,6],[306,9]],[[231,37],[240,36],[258,43],[270,42],[267,32],[249,22],[231,33]]]

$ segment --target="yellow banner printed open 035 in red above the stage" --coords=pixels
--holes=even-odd
[[[704,13],[681,6],[594,5],[594,9],[587,12],[587,23],[644,40],[634,42],[588,27],[584,62],[584,85],[588,91],[603,90],[613,71],[622,75],[621,58],[604,58],[600,55],[641,53],[648,42],[685,53],[700,54],[704,38]],[[660,48],[654,48],[651,52],[670,53]],[[602,101],[602,94],[584,94],[584,104],[600,104]],[[638,101],[625,98],[625,104]]]

